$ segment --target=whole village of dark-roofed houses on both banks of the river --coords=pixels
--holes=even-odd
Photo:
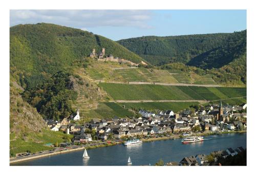
[[[240,106],[211,105],[191,112],[184,110],[175,113],[172,110],[160,111],[158,114],[140,110],[139,118],[105,118],[91,119],[78,123],[79,110],[62,121],[48,121],[52,131],[73,134],[72,142],[60,143],[59,147],[92,146],[95,143],[122,143],[131,139],[161,140],[183,138],[187,135],[207,135],[246,131],[246,104]],[[80,146],[80,147],[82,147]],[[218,161],[244,153],[242,146],[236,149],[212,151],[209,155],[198,154],[184,157],[178,162],[167,162],[165,166],[207,166],[218,165]],[[209,161],[211,160],[211,161]]]

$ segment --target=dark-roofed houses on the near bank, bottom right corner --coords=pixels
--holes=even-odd
[[[211,153],[211,155],[214,157],[215,162],[217,162],[218,158],[227,158],[228,156],[235,156],[238,155],[240,152],[243,152],[245,149],[240,146],[237,147],[236,149],[232,148],[227,148],[226,150],[219,150],[219,151],[214,151]],[[189,156],[189,157],[184,157],[180,163],[180,166],[202,166],[202,165],[208,165],[208,159],[206,155],[201,154],[201,155],[196,155],[196,156]]]

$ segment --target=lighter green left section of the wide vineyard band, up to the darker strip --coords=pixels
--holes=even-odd
[[[142,100],[142,99],[193,99],[176,86],[162,85],[128,85],[99,83],[99,85],[114,99]]]

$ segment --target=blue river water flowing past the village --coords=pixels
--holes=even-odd
[[[181,139],[143,142],[139,145],[114,145],[88,149],[90,159],[83,159],[83,150],[28,160],[11,165],[19,166],[125,166],[129,156],[132,165],[154,165],[159,159],[165,163],[180,162],[183,157],[210,154],[214,150],[239,146],[246,148],[246,133],[205,136],[203,142],[182,144]]]

